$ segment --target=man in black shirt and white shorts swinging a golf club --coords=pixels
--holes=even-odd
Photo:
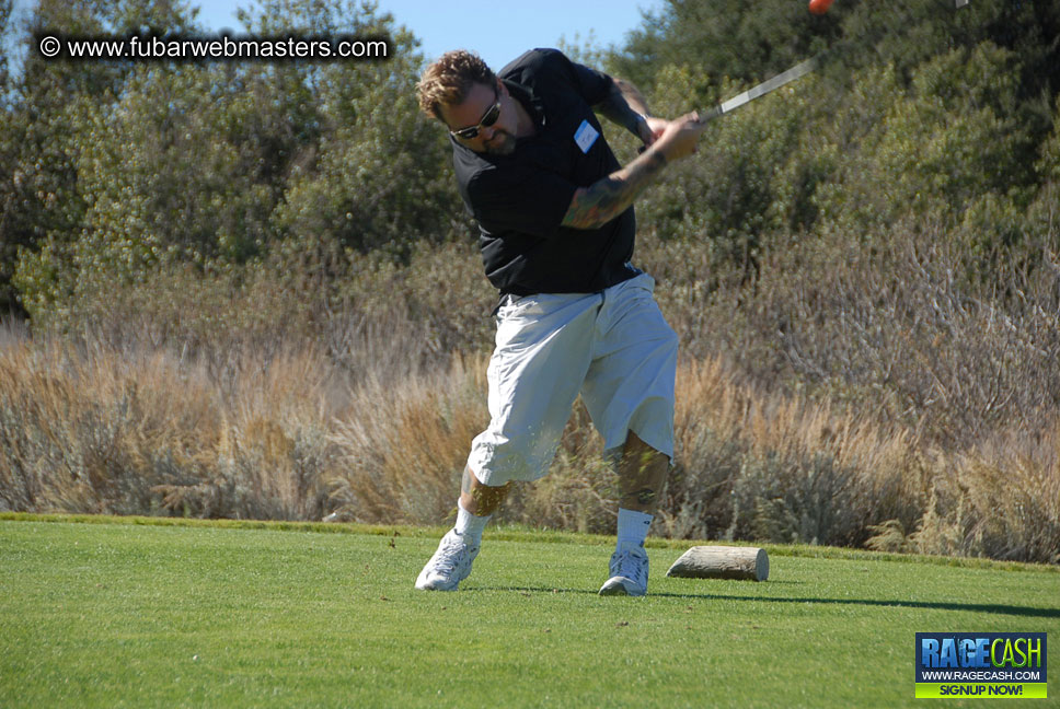
[[[499,77],[450,51],[418,84],[450,133],[461,197],[500,291],[489,360],[488,428],[471,445],[457,524],[416,588],[456,591],[514,480],[549,469],[578,394],[617,465],[618,544],[602,595],[644,595],[644,539],[673,455],[678,338],[655,281],[631,263],[633,200],[704,129],[695,114],[653,117],[635,88],[556,50],[520,56]],[[624,167],[594,111],[645,150]]]

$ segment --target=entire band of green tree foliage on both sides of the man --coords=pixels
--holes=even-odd
[[[371,3],[242,12],[261,35],[390,38],[387,60],[322,63],[46,61],[32,32],[203,28],[191,2],[39,0],[25,27],[11,7],[0,28],[26,45],[18,68],[0,57],[0,312],[71,325],[114,288],[184,269],[238,283],[301,264],[341,282],[353,254],[400,267],[472,233],[443,132],[416,108],[417,42]],[[999,244],[1056,239],[1058,37],[1046,0],[842,0],[822,16],[669,0],[624,47],[584,56],[678,115],[830,49],[820,73],[716,121],[638,204],[660,240],[705,254],[707,280],[733,267],[753,283],[790,234],[879,239],[902,220],[949,230],[990,278]]]

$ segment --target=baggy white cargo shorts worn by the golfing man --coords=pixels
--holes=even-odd
[[[489,427],[468,466],[484,485],[535,480],[549,470],[581,394],[604,450],[633,431],[673,457],[678,337],[641,274],[599,293],[508,297],[489,359]]]

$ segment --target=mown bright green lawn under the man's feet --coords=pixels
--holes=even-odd
[[[607,539],[496,530],[422,593],[438,530],[49,520],[0,521],[2,707],[892,707],[917,631],[1046,631],[1060,667],[1053,567],[769,547],[765,583],[667,579],[691,543],[660,542],[648,597],[602,598]]]

